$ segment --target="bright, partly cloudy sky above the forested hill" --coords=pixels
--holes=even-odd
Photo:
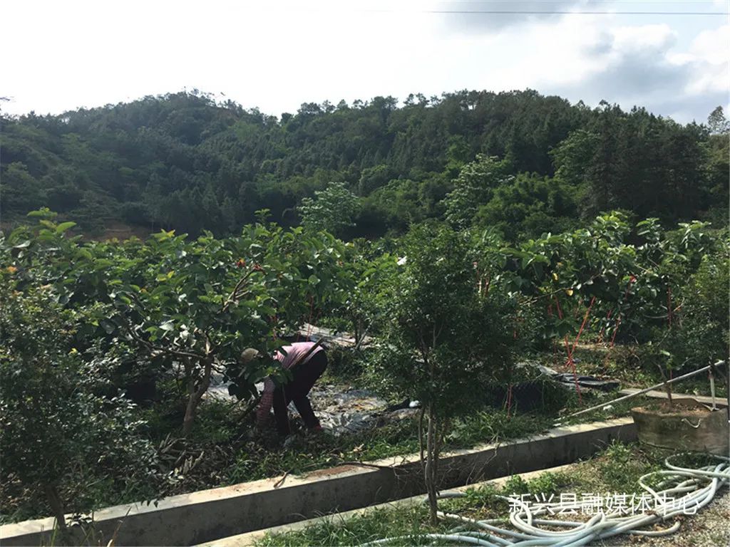
[[[531,88],[699,123],[730,102],[728,12],[730,0],[3,2],[1,106],[59,114],[198,89],[278,116]]]

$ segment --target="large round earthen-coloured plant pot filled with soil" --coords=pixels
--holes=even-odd
[[[631,408],[639,441],[677,451],[727,456],[730,430],[726,408],[710,411],[694,399],[673,399],[656,406]]]

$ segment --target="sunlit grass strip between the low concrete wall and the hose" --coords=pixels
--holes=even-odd
[[[467,489],[466,496],[442,500],[439,509],[472,519],[504,519],[507,521],[509,505],[499,495],[534,494],[546,499],[561,492],[604,493],[637,492],[639,477],[661,468],[666,453],[645,449],[637,444],[612,443],[596,457],[573,465],[559,473],[545,472],[526,481],[513,476],[501,487],[485,483]],[[453,523],[441,521],[438,527],[429,525],[425,505],[391,505],[372,508],[343,519],[328,516],[312,526],[292,532],[269,534],[258,540],[256,546],[347,546],[358,545],[380,538],[407,535],[403,545],[423,545],[423,535],[431,532],[446,532]]]

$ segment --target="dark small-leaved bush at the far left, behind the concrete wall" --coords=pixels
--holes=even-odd
[[[80,313],[61,309],[50,287],[17,290],[12,274],[0,274],[2,481],[43,492],[64,530],[64,513],[90,508],[92,484],[154,475],[155,452],[134,403],[101,395],[115,362],[77,349]]]

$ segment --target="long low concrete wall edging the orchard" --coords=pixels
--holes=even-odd
[[[449,452],[440,464],[442,488],[575,462],[613,439],[636,439],[631,418],[558,427],[504,445]],[[275,477],[173,496],[157,506],[102,509],[93,515],[93,543],[107,543],[118,530],[115,544],[120,546],[194,545],[423,493],[417,455],[372,463],[388,468],[345,465],[287,477],[278,488],[274,484],[280,477]],[[37,547],[48,542],[52,529],[53,519],[7,524],[0,527],[0,545]]]

